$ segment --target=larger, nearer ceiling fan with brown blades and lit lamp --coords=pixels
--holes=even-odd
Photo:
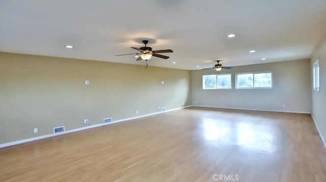
[[[152,51],[151,47],[146,47],[146,45],[148,44],[148,41],[144,40],[142,42],[145,44],[145,47],[141,47],[141,48],[131,47],[132,49],[138,50],[140,52],[140,53],[132,53],[134,55],[139,55],[137,61],[142,60],[142,59],[147,61],[152,56],[163,58],[163,59],[168,59],[169,56],[165,56],[165,55],[161,55],[161,54],[157,54],[157,53],[173,52],[171,49]],[[116,56],[124,56],[124,55],[132,55],[132,54],[120,54],[120,55],[116,55]]]

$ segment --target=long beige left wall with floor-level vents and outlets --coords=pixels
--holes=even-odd
[[[95,125],[156,113],[158,106],[170,110],[191,99],[187,70],[0,53],[0,143],[58,126],[85,127],[84,119]]]

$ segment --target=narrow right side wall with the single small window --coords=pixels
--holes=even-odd
[[[311,69],[317,59],[319,59],[320,69],[320,92],[313,90],[312,85],[310,86],[312,90],[312,116],[323,140],[326,141],[326,39],[313,53]]]

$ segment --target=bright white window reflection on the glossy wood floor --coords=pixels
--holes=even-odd
[[[253,117],[251,117],[253,119]],[[248,122],[204,118],[203,133],[208,140],[219,140],[225,144],[236,144],[248,150],[273,153],[280,142],[273,125],[253,125]]]

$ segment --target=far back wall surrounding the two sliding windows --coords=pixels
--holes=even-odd
[[[232,90],[203,90],[202,75],[216,74],[210,69],[192,71],[193,104],[284,112],[311,112],[311,70],[309,60],[237,66],[224,69],[232,73]],[[273,71],[273,89],[235,89],[236,72]],[[196,103],[197,101],[197,103]],[[282,105],[285,104],[285,107]]]

